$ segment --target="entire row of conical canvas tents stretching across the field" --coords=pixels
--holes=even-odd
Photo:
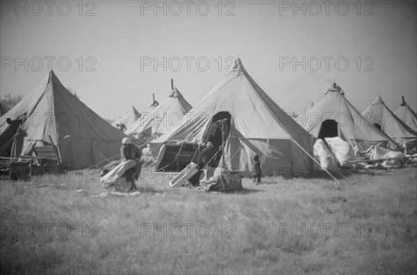
[[[8,115],[22,124],[6,123]],[[413,148],[417,142],[417,116],[407,104],[394,114],[377,98],[361,114],[336,84],[293,119],[256,84],[240,59],[195,107],[174,88],[158,107],[142,114],[133,107],[113,125],[120,123],[126,132],[95,114],[51,71],[37,91],[1,116],[0,155],[31,155],[33,145],[54,143],[64,166],[85,168],[117,156],[126,134],[146,133],[154,137],[150,144],[158,154],[158,170],[181,170],[198,162],[199,145],[211,141],[223,148],[220,165],[227,168],[249,172],[258,154],[265,174],[288,175],[291,170],[298,175],[313,168],[317,138],[340,136],[360,151],[370,145]]]

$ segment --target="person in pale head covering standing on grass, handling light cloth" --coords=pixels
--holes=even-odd
[[[122,147],[120,148],[120,156],[122,161],[129,159],[136,161],[136,166],[133,166],[124,172],[126,181],[131,182],[131,190],[136,190],[136,180],[139,178],[140,169],[142,168],[142,161],[140,160],[142,152],[135,144],[132,143],[130,138],[124,138],[122,140]]]

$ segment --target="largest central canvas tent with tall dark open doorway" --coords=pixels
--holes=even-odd
[[[252,171],[255,154],[264,175],[300,175],[312,168],[306,152],[313,154],[313,136],[256,84],[240,59],[186,118],[152,141],[161,146],[157,169],[178,170],[192,159],[198,162],[198,145],[208,141],[216,149],[224,144],[220,166],[243,174]]]

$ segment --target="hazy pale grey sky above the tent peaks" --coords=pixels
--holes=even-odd
[[[117,118],[132,105],[147,112],[152,93],[165,100],[170,78],[196,105],[240,57],[287,112],[333,80],[360,112],[378,95],[393,111],[401,96],[416,110],[415,1],[294,3],[2,1],[1,96],[37,89],[51,62],[85,104]]]

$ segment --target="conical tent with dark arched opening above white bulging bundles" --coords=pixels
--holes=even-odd
[[[316,104],[300,114],[296,121],[319,139],[340,136],[352,148],[361,151],[367,150],[370,145],[386,147],[390,143],[390,147],[396,146],[386,134],[361,116],[336,83]]]

